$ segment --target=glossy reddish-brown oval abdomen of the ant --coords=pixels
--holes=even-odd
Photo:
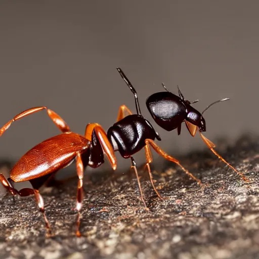
[[[50,174],[71,162],[76,152],[84,152],[90,141],[75,133],[63,133],[29,150],[10,172],[14,182],[23,182]]]

